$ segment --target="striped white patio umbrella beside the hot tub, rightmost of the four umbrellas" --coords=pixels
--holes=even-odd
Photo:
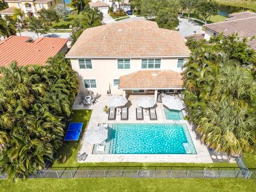
[[[162,98],[163,105],[169,109],[182,110],[185,108],[185,103],[180,98],[166,95]]]

